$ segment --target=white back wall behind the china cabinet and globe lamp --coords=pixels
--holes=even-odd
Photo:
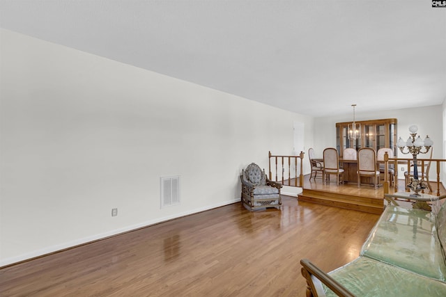
[[[424,106],[417,109],[397,109],[380,112],[359,111],[360,106],[356,109],[356,120],[378,120],[385,118],[396,118],[398,120],[397,136],[401,136],[406,140],[410,134],[408,128],[410,125],[418,126],[418,135],[422,138],[429,135],[433,140],[433,159],[443,159],[443,106]],[[348,109],[348,106],[346,106]],[[325,147],[336,147],[336,123],[348,122],[353,118],[353,110],[351,115],[338,117],[315,118],[314,134],[321,137],[314,138],[315,150],[322,155]],[[316,152],[317,153],[317,152]],[[410,154],[398,154],[399,158],[411,158]],[[420,154],[419,159],[429,158],[429,154]],[[399,177],[403,178],[403,172],[399,170]],[[407,166],[406,166],[407,167]],[[403,168],[406,170],[406,168]],[[436,167],[431,166],[431,177],[436,172]]]

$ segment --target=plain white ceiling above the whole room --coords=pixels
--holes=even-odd
[[[0,26],[316,117],[446,99],[429,0],[0,0]]]

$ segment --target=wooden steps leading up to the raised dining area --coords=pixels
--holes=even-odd
[[[384,209],[383,198],[361,197],[358,195],[346,195],[308,189],[303,189],[302,193],[298,195],[298,200],[364,211],[369,214],[382,214]]]

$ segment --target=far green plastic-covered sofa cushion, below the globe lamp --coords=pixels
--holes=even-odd
[[[361,256],[445,281],[446,265],[430,211],[387,206]]]

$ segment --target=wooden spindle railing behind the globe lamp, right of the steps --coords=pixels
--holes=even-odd
[[[440,167],[440,165],[441,165],[441,162],[446,162],[446,159],[417,159],[418,164],[420,164],[420,165],[417,166],[419,168],[418,169],[418,174],[420,175],[420,178],[425,176],[426,172],[424,172],[424,168],[425,168],[424,163],[428,162],[428,161],[431,161],[431,168],[433,167],[434,164],[436,165],[435,168],[436,168],[436,186],[437,186],[437,188],[436,189],[432,189],[433,190],[432,194],[440,196],[440,184],[441,184],[441,181],[440,181],[440,168],[441,167]],[[383,184],[383,188],[384,188],[384,193],[385,194],[389,193],[389,180],[388,180],[388,176],[389,176],[388,168],[389,168],[389,165],[394,164],[395,173],[397,174],[398,164],[405,164],[405,165],[407,165],[407,171],[410,172],[410,165],[412,163],[413,163],[413,158],[410,158],[410,159],[389,158],[387,152],[385,153],[385,155],[384,155],[384,164],[385,164],[385,166],[384,166],[385,169],[384,170],[385,171],[384,171],[384,184]],[[431,170],[429,170],[429,172],[431,172]],[[432,179],[431,179],[431,176],[429,176],[429,181],[433,182]],[[397,187],[397,182],[395,183],[395,185]],[[406,189],[406,191],[410,191],[410,190]],[[426,193],[426,191],[424,191],[424,192]]]

